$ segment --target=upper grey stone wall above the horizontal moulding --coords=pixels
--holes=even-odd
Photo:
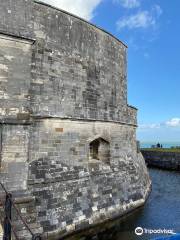
[[[0,31],[25,37],[26,42],[0,37],[6,86],[0,92],[1,118],[32,113],[136,124],[136,111],[127,105],[126,47],[121,42],[51,7],[2,2],[1,11],[7,14],[1,16]],[[16,8],[20,19],[13,15]],[[12,21],[17,21],[18,29]],[[25,25],[20,27],[19,22]]]

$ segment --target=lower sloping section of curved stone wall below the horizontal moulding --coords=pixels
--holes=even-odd
[[[46,232],[80,230],[143,204],[149,179],[134,127],[67,120],[34,127],[29,185]],[[99,136],[110,142],[109,164],[90,159],[89,143]]]

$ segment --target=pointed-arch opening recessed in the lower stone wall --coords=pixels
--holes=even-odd
[[[110,144],[103,138],[97,138],[90,142],[90,159],[110,163]]]

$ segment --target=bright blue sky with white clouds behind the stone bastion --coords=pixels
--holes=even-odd
[[[180,142],[180,1],[43,0],[128,45],[128,99],[141,141]]]

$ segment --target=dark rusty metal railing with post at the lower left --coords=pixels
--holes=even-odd
[[[4,212],[4,219],[1,218],[1,223],[3,227],[3,240],[11,240],[12,233],[14,234],[14,237],[16,240],[19,240],[20,238],[17,235],[17,232],[13,226],[12,223],[12,208],[16,211],[18,217],[21,219],[21,222],[27,229],[27,231],[31,234],[32,240],[42,240],[41,236],[39,234],[34,234],[32,230],[29,228],[26,221],[23,219],[19,209],[16,207],[14,201],[12,200],[12,194],[9,193],[4,185],[0,182],[0,186],[2,187],[3,191],[5,192],[5,202],[3,203],[1,200],[1,204],[3,206],[3,212]]]

